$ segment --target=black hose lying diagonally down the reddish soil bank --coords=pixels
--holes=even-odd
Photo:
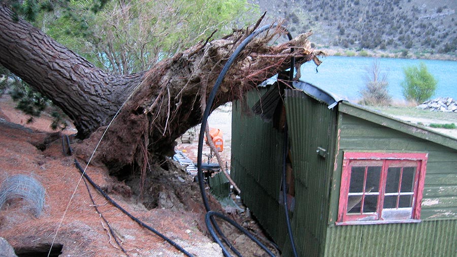
[[[81,165],[79,165],[78,163],[78,160],[75,159],[75,165],[76,167],[78,168],[78,170],[81,172],[81,174],[84,176],[85,179],[87,179],[87,181],[89,181],[89,183],[95,187],[95,189],[97,189],[100,194],[103,195],[103,197],[105,197],[106,200],[108,200],[112,205],[114,205],[117,209],[119,209],[120,211],[122,211],[125,215],[127,215],[129,218],[131,218],[132,220],[134,220],[135,222],[137,222],[140,226],[146,228],[147,230],[151,231],[152,233],[156,234],[157,236],[159,236],[160,238],[164,239],[165,241],[167,241],[169,244],[171,244],[172,246],[174,246],[176,249],[178,249],[179,251],[181,251],[182,253],[184,253],[186,256],[193,256],[192,254],[190,254],[189,252],[187,252],[186,250],[184,250],[184,248],[182,248],[181,246],[179,246],[177,243],[175,243],[173,240],[171,240],[170,238],[166,237],[165,235],[161,234],[160,232],[156,231],[155,229],[149,227],[146,223],[144,223],[143,221],[139,220],[137,217],[135,217],[134,215],[130,214],[128,211],[126,211],[124,208],[122,208],[120,205],[118,205],[113,199],[111,199],[103,190],[102,188],[100,188],[100,186],[98,186],[97,184],[95,184],[95,182],[92,181],[92,179],[90,179],[90,177],[84,172],[84,169],[81,168]]]

